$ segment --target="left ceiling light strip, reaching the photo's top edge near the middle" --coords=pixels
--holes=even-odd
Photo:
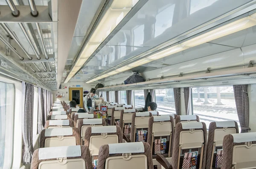
[[[113,0],[68,74],[67,83],[139,0]]]

